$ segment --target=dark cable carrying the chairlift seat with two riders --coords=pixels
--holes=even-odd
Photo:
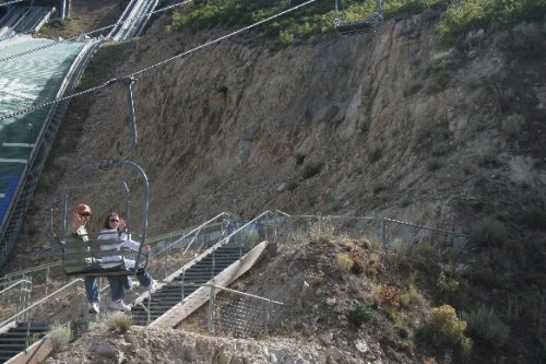
[[[121,80],[123,80],[123,79],[131,78],[131,77],[134,77],[134,75],[136,75],[136,74],[141,74],[141,73],[144,73],[144,72],[151,71],[151,70],[156,69],[156,68],[158,68],[159,66],[166,64],[166,63],[168,63],[168,62],[170,62],[170,61],[173,61],[173,60],[175,60],[175,59],[182,58],[182,57],[188,56],[188,55],[190,55],[190,54],[192,54],[192,52],[194,52],[194,51],[197,51],[197,50],[199,50],[199,49],[202,49],[202,48],[204,48],[204,47],[211,46],[211,45],[216,44],[216,43],[218,43],[218,42],[221,42],[221,40],[224,40],[224,39],[230,38],[230,37],[233,37],[234,35],[237,35],[237,34],[239,34],[239,33],[241,33],[241,32],[245,32],[245,31],[251,30],[251,28],[253,28],[253,27],[257,27],[258,25],[261,25],[261,24],[263,24],[263,23],[266,23],[266,22],[269,22],[269,21],[271,21],[271,20],[273,20],[273,19],[280,17],[280,16],[282,16],[282,15],[284,15],[284,14],[289,13],[289,12],[293,12],[293,11],[295,11],[295,10],[299,9],[299,8],[307,7],[308,4],[313,3],[314,1],[316,1],[316,0],[308,0],[308,1],[306,1],[306,2],[300,3],[299,5],[296,5],[296,7],[293,7],[293,8],[287,9],[287,10],[284,10],[284,11],[282,11],[282,12],[280,12],[280,13],[273,14],[273,15],[271,15],[271,16],[269,16],[269,17],[266,17],[266,19],[263,19],[263,20],[261,20],[261,21],[259,21],[259,22],[256,22],[256,23],[250,24],[250,25],[248,25],[248,26],[245,26],[245,27],[242,27],[242,28],[240,28],[240,30],[237,30],[237,31],[235,31],[235,32],[232,32],[232,33],[229,33],[229,34],[226,34],[226,35],[224,35],[224,36],[222,36],[222,37],[219,37],[219,38],[216,38],[216,39],[211,40],[211,42],[206,42],[205,44],[202,44],[202,45],[200,45],[200,46],[198,46],[198,47],[195,47],[195,48],[192,48],[192,49],[190,49],[190,50],[187,50],[187,51],[185,51],[185,52],[182,52],[182,54],[180,54],[180,55],[176,55],[176,56],[174,56],[174,57],[170,57],[170,58],[164,59],[164,60],[162,60],[162,61],[159,61],[159,62],[157,62],[157,63],[151,64],[151,66],[149,66],[149,67],[145,67],[145,68],[143,68],[143,69],[140,69],[139,71],[135,71],[135,72],[132,72],[132,73],[126,74],[126,75],[123,75],[123,77],[119,77],[119,78],[114,78],[114,79],[110,79],[110,80],[108,80],[108,81],[106,81],[106,82],[104,82],[104,83],[102,83],[102,84],[99,84],[99,85],[96,85],[96,86],[94,86],[94,87],[86,89],[86,90],[83,90],[83,91],[80,91],[80,92],[76,92],[76,93],[73,93],[73,94],[70,94],[70,95],[63,96],[63,97],[55,98],[55,99],[52,99],[52,101],[50,101],[50,102],[47,102],[47,103],[43,103],[43,104],[38,104],[38,105],[35,105],[35,106],[31,106],[31,107],[24,108],[24,109],[19,110],[19,111],[14,111],[14,113],[11,113],[11,114],[5,114],[5,115],[2,115],[2,116],[0,116],[0,122],[2,122],[3,120],[10,119],[10,118],[13,118],[13,117],[20,116],[20,115],[24,115],[24,114],[28,114],[28,113],[35,111],[35,110],[37,110],[37,109],[40,109],[40,108],[43,108],[43,107],[46,107],[46,106],[52,105],[52,104],[55,104],[55,103],[60,103],[60,102],[63,102],[63,101],[66,101],[66,99],[70,99],[70,98],[75,97],[75,96],[81,96],[81,95],[84,95],[84,94],[90,93],[90,92],[98,91],[98,90],[100,90],[100,89],[104,89],[104,87],[106,87],[106,86],[109,86],[110,84],[116,83],[116,82],[118,82],[118,81],[121,81]]]

